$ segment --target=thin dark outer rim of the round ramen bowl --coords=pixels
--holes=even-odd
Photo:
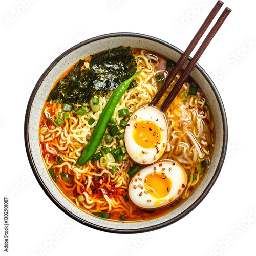
[[[56,65],[56,63],[58,63],[63,57],[65,57],[66,55],[68,55],[69,53],[71,53],[72,51],[74,51],[75,49],[78,49],[79,47],[83,46],[83,45],[87,45],[91,42],[94,42],[94,41],[97,41],[97,40],[100,40],[100,39],[104,39],[104,38],[109,38],[109,37],[122,37],[122,36],[125,36],[125,37],[139,37],[139,38],[144,38],[144,39],[148,39],[148,40],[153,40],[153,41],[156,41],[158,42],[159,44],[162,44],[164,46],[167,46],[169,47],[170,49],[173,49],[174,51],[178,52],[179,54],[182,54],[183,51],[181,51],[179,48],[169,44],[168,42],[166,41],[163,41],[161,39],[158,39],[156,37],[153,37],[153,36],[149,36],[149,35],[144,35],[144,34],[138,34],[138,33],[126,33],[126,32],[121,32],[121,33],[111,33],[111,34],[104,34],[104,35],[100,35],[100,36],[96,36],[96,37],[93,37],[91,39],[88,39],[88,40],[85,40],[85,41],[82,41],[80,42],[79,44],[71,47],[70,49],[68,49],[66,52],[62,53],[59,57],[57,57],[52,63],[51,65],[46,69],[46,71],[41,75],[41,77],[39,78],[39,80],[37,81],[32,93],[31,93],[31,96],[30,96],[30,99],[29,99],[29,102],[28,102],[28,106],[27,106],[27,110],[26,110],[26,115],[25,115],[25,125],[24,125],[24,135],[25,135],[25,147],[26,147],[26,152],[27,152],[27,156],[28,156],[28,159],[29,159],[29,163],[30,163],[30,166],[33,170],[33,173],[38,181],[38,183],[40,184],[41,188],[45,191],[46,195],[52,200],[52,202],[58,207],[60,208],[63,212],[65,212],[69,217],[71,217],[72,219],[80,222],[81,224],[83,225],[86,225],[86,226],[89,226],[89,227],[92,227],[92,228],[95,228],[95,229],[98,229],[98,230],[101,230],[101,231],[106,231],[106,232],[112,232],[112,233],[141,233],[141,232],[148,232],[148,231],[153,231],[153,230],[156,230],[156,229],[159,229],[159,228],[162,228],[162,227],[165,227],[165,226],[168,226],[170,224],[173,224],[175,223],[176,221],[182,219],[183,217],[185,217],[187,214],[189,214],[190,211],[192,211],[193,209],[195,209],[201,202],[202,200],[206,197],[206,195],[209,193],[211,187],[214,185],[214,183],[216,182],[219,174],[220,174],[220,171],[221,171],[221,168],[223,166],[223,163],[224,163],[224,159],[225,159],[225,156],[226,156],[226,151],[227,151],[227,141],[228,141],[228,129],[227,129],[227,118],[226,118],[226,113],[225,113],[225,109],[224,109],[224,105],[223,105],[223,102],[222,102],[222,99],[220,97],[220,94],[214,84],[214,82],[212,82],[212,80],[210,79],[209,75],[203,70],[203,68],[197,64],[196,65],[196,68],[200,71],[200,73],[204,76],[204,78],[207,80],[207,82],[209,83],[211,89],[214,91],[214,94],[215,94],[215,97],[218,101],[218,104],[219,104],[219,107],[220,107],[220,111],[221,111],[221,115],[222,115],[222,123],[223,123],[223,145],[222,145],[222,152],[221,152],[221,157],[220,157],[220,160],[219,160],[219,164],[217,165],[217,168],[215,170],[215,174],[212,176],[208,186],[206,187],[206,189],[203,191],[203,193],[198,197],[198,199],[193,203],[191,204],[187,209],[185,209],[181,214],[175,216],[174,218],[168,220],[168,221],[165,221],[163,223],[160,223],[160,224],[157,224],[157,225],[153,225],[153,226],[150,226],[150,227],[145,227],[145,228],[138,228],[138,229],[123,229],[123,230],[116,230],[116,229],[113,229],[113,228],[106,228],[106,227],[101,227],[101,226],[98,226],[98,225],[95,225],[93,223],[90,223],[90,222],[87,222],[86,220],[83,220],[77,216],[74,216],[72,214],[71,211],[69,211],[67,208],[63,207],[54,197],[53,195],[50,193],[50,191],[48,190],[47,186],[45,185],[45,183],[41,180],[38,172],[37,172],[37,169],[36,169],[36,166],[35,166],[35,163],[34,163],[34,160],[33,160],[33,156],[31,154],[31,151],[30,151],[30,144],[29,144],[29,135],[28,135],[28,130],[29,130],[29,116],[30,116],[30,111],[31,111],[31,106],[32,106],[32,102],[34,100],[34,97],[36,95],[36,92],[37,90],[39,89],[42,81],[46,78],[46,76],[48,75],[48,73],[52,70],[52,68]],[[190,60],[191,57],[188,58],[188,60]]]

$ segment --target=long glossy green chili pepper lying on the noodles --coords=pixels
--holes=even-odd
[[[94,132],[91,136],[90,141],[83,148],[82,154],[76,162],[77,167],[83,166],[92,158],[104,136],[106,127],[108,126],[108,123],[115,112],[116,105],[122,98],[123,94],[129,87],[132,80],[140,73],[141,71],[133,75],[131,78],[122,82],[120,86],[118,86],[118,88],[113,92],[108,103],[106,103],[105,108],[103,109],[99,117],[99,120],[94,128]]]

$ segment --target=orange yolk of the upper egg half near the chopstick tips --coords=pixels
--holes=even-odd
[[[136,144],[143,148],[155,148],[162,141],[162,131],[153,122],[136,122],[133,129],[133,139]]]

